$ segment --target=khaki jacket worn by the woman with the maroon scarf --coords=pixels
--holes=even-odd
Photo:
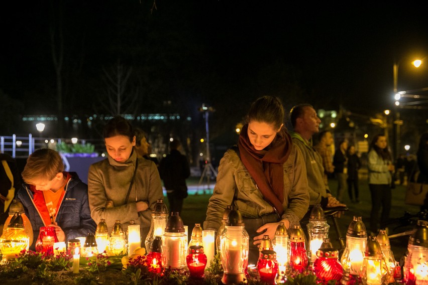
[[[309,206],[309,193],[306,167],[300,150],[294,145],[283,168],[284,213],[281,218],[288,219],[290,225],[299,224]],[[220,161],[217,183],[209,199],[206,220],[203,223],[204,229],[217,231],[226,207],[232,204],[235,191],[238,191],[236,205],[243,217],[259,218],[275,211],[264,199],[237,153],[228,150]]]

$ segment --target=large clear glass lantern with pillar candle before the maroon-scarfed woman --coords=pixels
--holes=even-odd
[[[249,236],[237,206],[231,206],[225,230],[220,236],[223,284],[244,281],[248,264]]]

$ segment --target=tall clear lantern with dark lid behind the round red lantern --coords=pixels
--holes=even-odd
[[[315,261],[316,251],[323,243],[323,240],[329,237],[329,229],[330,226],[327,224],[321,204],[314,205],[310,212],[309,223],[307,224],[307,233],[309,236],[308,258],[311,264]]]

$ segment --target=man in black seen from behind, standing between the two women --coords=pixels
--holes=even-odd
[[[187,158],[180,153],[181,143],[174,139],[169,144],[171,152],[161,160],[159,174],[163,180],[171,213],[181,213],[183,200],[187,197],[186,179],[190,176]]]

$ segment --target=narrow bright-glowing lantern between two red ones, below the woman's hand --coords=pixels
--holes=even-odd
[[[277,283],[286,281],[285,270],[288,265],[288,233],[284,222],[279,222],[275,230],[275,238],[272,241],[273,250],[276,252],[276,261],[278,261]]]

